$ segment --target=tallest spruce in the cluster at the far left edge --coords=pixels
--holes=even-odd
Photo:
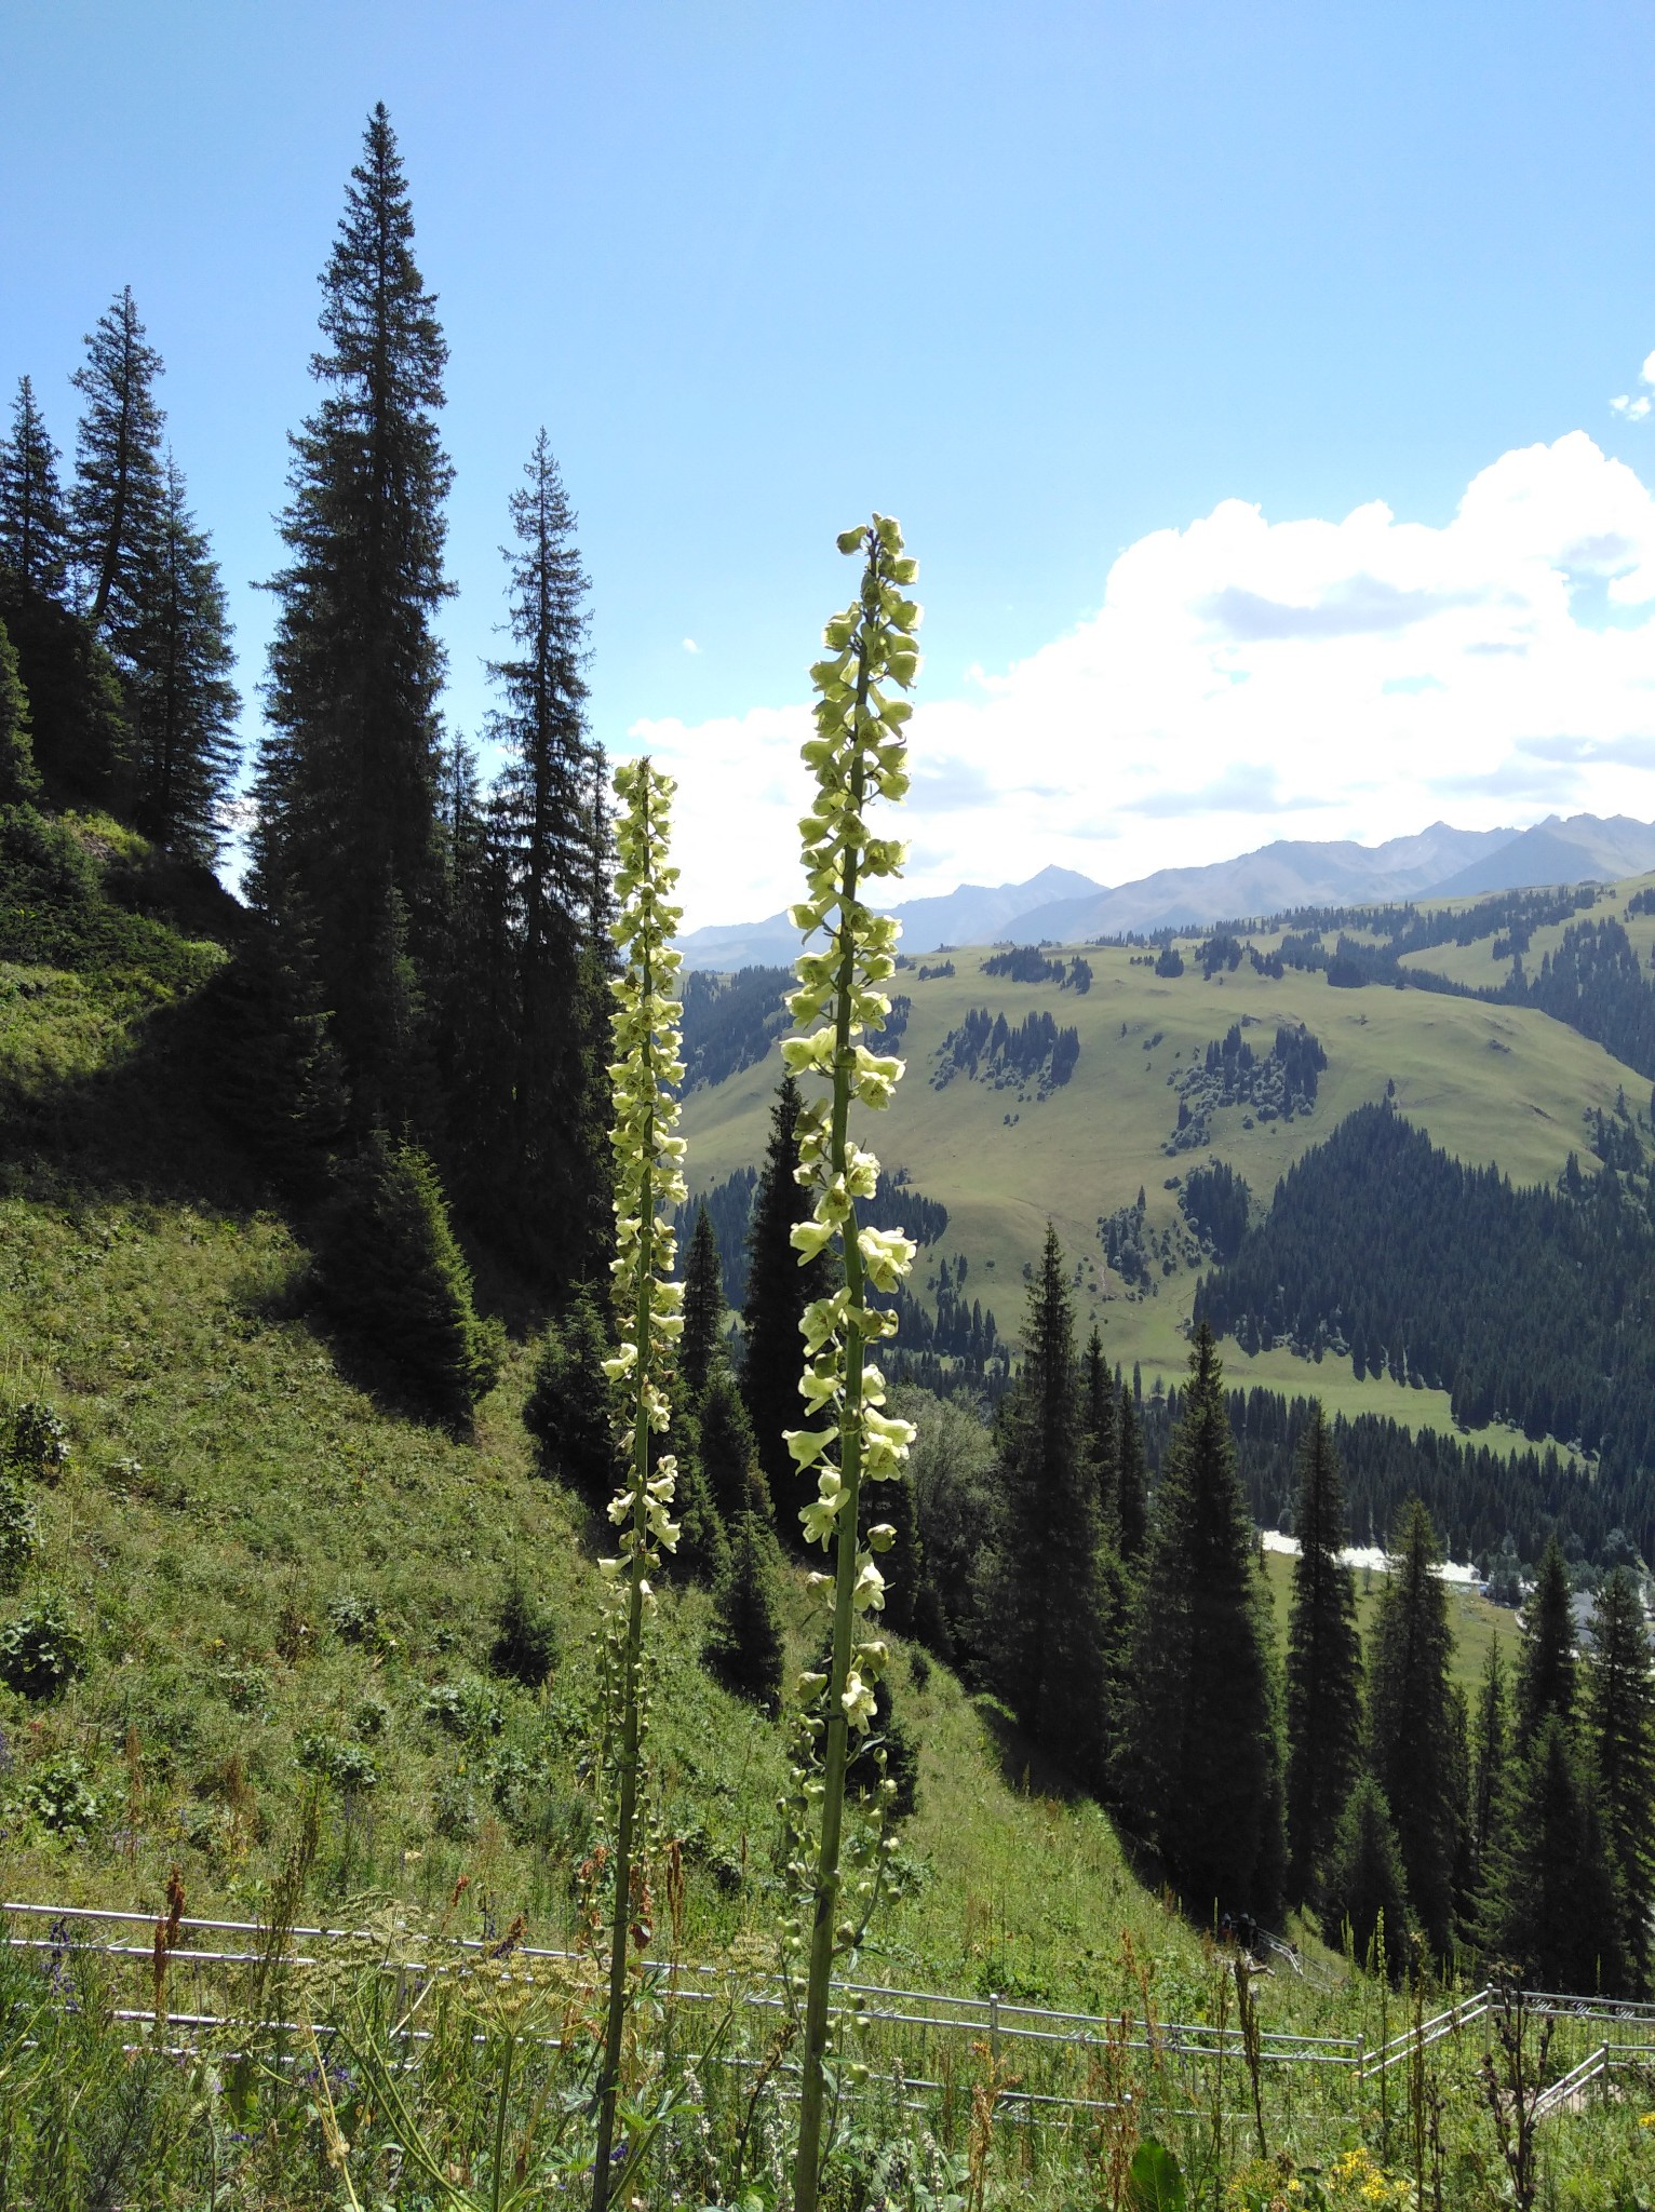
[[[162,504],[159,374],[126,285],[89,332],[73,376],[86,403],[71,500],[75,568],[86,617],[117,661],[142,608],[142,562]]]

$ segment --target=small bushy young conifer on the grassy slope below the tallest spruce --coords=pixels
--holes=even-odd
[[[396,1369],[409,1398],[456,1427],[493,1389],[502,1334],[478,1316],[438,1172],[376,1130],[339,1177],[319,1276],[334,1321]]]

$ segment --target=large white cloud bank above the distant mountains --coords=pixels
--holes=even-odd
[[[909,896],[1051,860],[1124,883],[1436,816],[1651,816],[1655,500],[1582,431],[1505,453],[1443,529],[1224,500],[1126,546],[1066,637],[974,677],[956,699],[920,677]],[[801,703],[633,730],[681,783],[688,927],[797,896],[808,726]]]

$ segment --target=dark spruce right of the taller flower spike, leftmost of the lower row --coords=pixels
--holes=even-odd
[[[987,1613],[993,1686],[1035,1743],[1097,1787],[1106,1754],[1102,1524],[1051,1223],[1029,1283],[1022,1369],[1000,1402],[998,1447],[1002,1520]]]

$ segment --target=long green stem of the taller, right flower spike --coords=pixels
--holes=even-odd
[[[867,712],[867,653],[856,653],[856,710]],[[865,772],[861,761],[852,768],[854,807],[861,814],[865,799]],[[850,1137],[850,1099],[854,1091],[856,1055],[852,1048],[852,998],[856,989],[856,936],[847,907],[856,898],[856,860],[852,847],[845,854],[845,876],[839,925],[839,975],[834,982],[834,1119],[828,1139],[830,1175],[845,1175],[845,1144]],[[845,1290],[850,1305],[863,1303],[863,1254],[856,1243],[856,1208],[852,1206],[843,1237]],[[799,2106],[799,2172],[794,2183],[797,2212],[810,2212],[816,2203],[816,2181],[821,2174],[821,2119],[828,2088],[828,1997],[834,1980],[834,1927],[839,1918],[839,1838],[845,1827],[845,1767],[850,1763],[850,1719],[845,1714],[845,1681],[850,1677],[850,1646],[856,1628],[852,1604],[856,1590],[856,1522],[863,1482],[863,1360],[865,1340],[861,1329],[852,1329],[845,1343],[845,1396],[839,1411],[839,1475],[845,1489],[845,1506],[839,1513],[839,1551],[834,1557],[834,1650],[828,1666],[828,1745],[823,1754],[823,1807],[821,1843],[816,1847],[816,1911],[810,1922],[810,1975],[805,1993],[805,2053],[803,2053],[803,2097]]]

